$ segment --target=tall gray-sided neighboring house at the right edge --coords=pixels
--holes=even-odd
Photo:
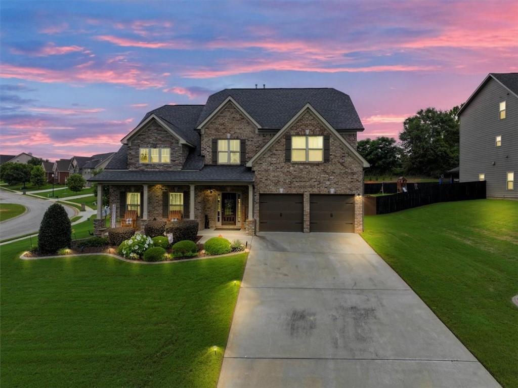
[[[461,182],[485,180],[488,197],[518,198],[518,73],[491,73],[458,112]]]

